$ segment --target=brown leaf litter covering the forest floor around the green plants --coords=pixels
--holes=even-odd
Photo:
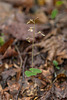
[[[66,100],[67,99],[67,8],[65,2],[58,8],[55,19],[50,18],[52,6],[45,0],[0,0],[0,34],[5,44],[0,46],[0,99],[1,100]],[[38,0],[39,1],[39,0]],[[6,3],[5,3],[6,2]],[[8,3],[7,3],[8,2]],[[46,5],[47,4],[47,5]],[[29,6],[30,5],[30,6]],[[43,5],[46,5],[43,7]],[[52,6],[51,6],[52,5]],[[8,9],[5,9],[7,6]],[[28,7],[29,6],[29,7]],[[50,7],[50,9],[49,9]],[[4,8],[4,9],[2,9]],[[24,10],[26,8],[26,10]],[[31,9],[36,13],[31,13]],[[42,12],[42,13],[41,13]],[[27,25],[30,18],[40,17],[35,28],[34,69],[42,73],[26,77],[25,70],[32,66],[33,33]],[[41,31],[45,37],[38,34]],[[26,38],[30,37],[29,43]],[[53,61],[58,62],[57,69]],[[40,71],[39,70],[39,71]]]

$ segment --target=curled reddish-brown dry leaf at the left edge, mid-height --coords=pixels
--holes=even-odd
[[[18,55],[18,53],[15,51],[14,47],[11,48],[12,43],[14,42],[14,39],[11,38],[8,40],[1,48],[0,53],[3,54],[0,59],[9,58],[9,57],[15,57]]]

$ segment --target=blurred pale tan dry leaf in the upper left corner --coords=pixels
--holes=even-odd
[[[1,2],[0,0],[0,24],[2,24],[2,28],[5,27],[5,24],[10,24],[14,20],[14,11],[15,9],[11,4]]]

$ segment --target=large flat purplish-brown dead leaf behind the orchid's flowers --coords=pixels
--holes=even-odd
[[[26,40],[29,37],[30,40],[33,40],[33,32],[29,32],[29,28],[33,27],[33,25],[27,25],[25,23],[17,23],[13,22],[11,25],[8,26],[8,28],[4,29],[4,33],[11,34],[13,37],[15,37],[18,40]],[[35,33],[37,33],[37,29],[35,28]],[[35,37],[37,34],[35,34]]]

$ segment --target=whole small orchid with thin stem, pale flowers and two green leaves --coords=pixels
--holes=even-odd
[[[30,32],[33,32],[33,42],[32,42],[32,68],[29,69],[29,71],[25,71],[25,75],[27,77],[30,77],[30,76],[35,76],[37,75],[38,73],[42,73],[42,71],[40,69],[37,69],[37,68],[33,68],[33,58],[34,58],[34,40],[35,40],[35,22],[38,18],[36,19],[30,19],[27,24],[30,24],[30,23],[33,23],[34,24],[34,27],[30,27],[28,31]],[[38,32],[38,34],[41,34],[42,36],[45,36],[43,33],[41,33],[40,31]],[[30,38],[28,37],[27,38],[27,41],[30,42]]]

